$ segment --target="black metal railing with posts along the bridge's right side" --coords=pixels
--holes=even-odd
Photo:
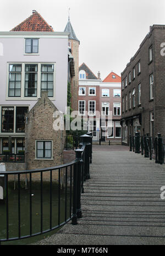
[[[164,163],[165,157],[165,139],[158,133],[157,137],[151,137],[149,134],[140,136],[140,132],[135,132],[135,136],[129,136],[130,151],[141,153],[144,157],[155,159],[155,163]]]

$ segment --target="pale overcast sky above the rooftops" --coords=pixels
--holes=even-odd
[[[54,31],[70,22],[80,40],[79,65],[104,79],[120,75],[149,32],[150,25],[165,24],[164,0],[0,0],[0,31],[9,31],[38,13]],[[165,40],[165,35],[164,35]]]

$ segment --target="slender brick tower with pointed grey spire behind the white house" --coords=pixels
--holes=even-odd
[[[72,25],[70,23],[70,18],[68,17],[68,23],[64,29],[64,32],[69,33],[69,48],[71,54],[74,57],[74,68],[75,76],[71,80],[71,107],[73,110],[78,110],[78,88],[79,88],[79,45],[80,41],[76,38]]]

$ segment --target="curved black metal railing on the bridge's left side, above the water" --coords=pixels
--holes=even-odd
[[[0,243],[6,241],[14,241],[17,239],[29,238],[34,237],[39,234],[43,234],[52,230],[55,230],[61,226],[63,226],[68,221],[72,220],[72,224],[78,224],[78,218],[82,216],[81,211],[81,193],[84,193],[84,181],[90,178],[90,162],[92,156],[92,146],[91,146],[91,136],[89,135],[82,135],[80,136],[80,148],[75,150],[75,161],[63,164],[61,166],[55,167],[48,167],[42,169],[34,169],[34,170],[21,170],[21,171],[8,171],[8,172],[0,172],[0,185],[3,186],[4,189],[4,203],[5,203],[5,232],[1,233],[0,236]],[[21,229],[21,217],[22,212],[21,206],[21,177],[22,175],[26,175],[28,177],[28,190],[27,193],[29,194],[28,198],[28,214],[26,214],[26,218],[29,219],[28,227],[26,234],[22,233]],[[49,210],[48,215],[43,214],[43,197],[44,197],[44,190],[43,190],[43,181],[46,180],[49,182]],[[9,225],[9,212],[12,211],[9,207],[9,198],[10,198],[10,189],[9,189],[9,180],[13,177],[17,177],[18,184],[17,184],[17,211],[18,211],[18,219],[15,222],[18,222],[17,226],[17,236],[10,236],[10,225]],[[35,175],[39,175],[40,179],[39,188],[40,188],[40,225],[38,227],[38,231],[35,232],[35,221],[34,215],[32,212],[34,211],[35,205],[32,204],[32,182]],[[53,180],[54,175],[56,175],[58,180],[58,189],[57,189],[57,223],[53,225],[53,218],[54,215],[52,214],[52,193],[53,193]],[[38,176],[37,176],[38,177]],[[61,180],[63,178],[63,184]],[[3,183],[2,183],[3,180]],[[3,185],[2,185],[3,184]],[[17,191],[16,191],[17,192]],[[64,198],[62,200],[61,194],[64,194]],[[53,194],[54,195],[54,194]],[[62,210],[62,201],[64,204],[63,212]],[[1,204],[2,205],[2,204]],[[1,207],[0,207],[1,210]],[[63,218],[61,217],[63,214]],[[0,212],[2,216],[2,212]],[[43,225],[44,221],[49,219],[49,225],[47,228]],[[1,231],[1,230],[0,230]]]

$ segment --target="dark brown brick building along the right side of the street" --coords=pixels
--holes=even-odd
[[[122,72],[122,142],[129,135],[165,137],[165,25],[150,26],[136,54]]]

